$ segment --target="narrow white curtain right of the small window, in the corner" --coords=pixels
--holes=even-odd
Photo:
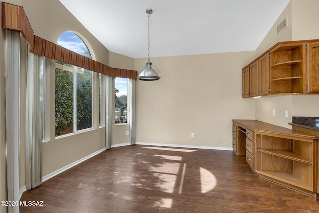
[[[129,79],[129,133],[130,144],[135,144],[135,80]]]

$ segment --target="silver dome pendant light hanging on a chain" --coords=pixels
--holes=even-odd
[[[148,36],[148,62],[145,63],[145,66],[141,69],[140,74],[138,76],[139,80],[142,81],[156,81],[160,79],[159,76],[159,70],[155,66],[152,68],[152,62],[150,61],[150,14],[152,14],[152,9],[146,9],[146,14],[148,14],[149,22],[148,22],[148,30],[149,30],[149,36]]]

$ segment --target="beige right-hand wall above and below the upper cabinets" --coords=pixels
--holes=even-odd
[[[307,2],[307,3],[306,3]],[[256,57],[279,41],[319,39],[318,0],[292,0],[256,50]],[[276,36],[276,26],[288,16],[288,27]],[[292,116],[319,116],[319,95],[272,96],[256,100],[256,118],[291,128]],[[276,116],[272,115],[276,109]],[[284,111],[288,110],[288,118]]]

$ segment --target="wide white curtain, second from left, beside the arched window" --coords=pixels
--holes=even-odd
[[[44,57],[28,53],[25,106],[25,187],[42,184]]]

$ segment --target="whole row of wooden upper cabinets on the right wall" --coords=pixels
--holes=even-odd
[[[319,39],[279,42],[243,69],[243,98],[307,93],[319,93]]]

